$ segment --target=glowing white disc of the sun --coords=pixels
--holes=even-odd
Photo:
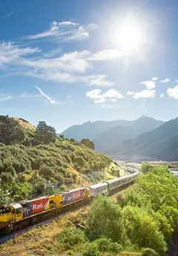
[[[113,41],[122,50],[132,52],[142,45],[142,31],[134,22],[122,22],[113,30]]]

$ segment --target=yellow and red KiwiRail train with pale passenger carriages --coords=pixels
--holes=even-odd
[[[0,206],[0,234],[7,234],[44,220],[62,209],[72,207],[83,200],[90,200],[99,194],[110,194],[116,188],[133,182],[139,177],[139,171],[125,177],[119,177],[91,186],[75,188],[60,194],[23,200],[18,203]]]

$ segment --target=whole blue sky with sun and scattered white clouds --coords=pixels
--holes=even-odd
[[[0,111],[58,132],[178,107],[178,1],[0,3]]]

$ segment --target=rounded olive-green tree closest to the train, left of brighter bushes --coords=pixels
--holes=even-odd
[[[99,196],[93,202],[87,220],[90,239],[102,236],[119,240],[121,234],[121,207],[109,197]]]

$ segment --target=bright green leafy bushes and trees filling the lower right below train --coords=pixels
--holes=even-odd
[[[57,235],[60,255],[165,255],[178,220],[177,178],[163,166],[145,163],[142,171],[122,201],[102,195],[94,200],[85,231],[65,229]]]

